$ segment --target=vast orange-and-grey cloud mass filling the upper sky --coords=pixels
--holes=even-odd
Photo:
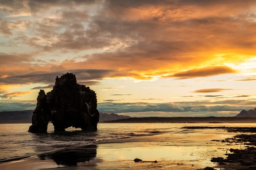
[[[24,45],[22,53],[28,54],[31,48],[38,51],[31,54],[32,60],[17,62],[20,67],[4,66],[6,69],[1,75],[60,67],[62,70],[118,70],[109,77],[185,79],[234,73],[235,70],[224,66],[225,63],[239,63],[255,56],[256,3],[251,0],[131,0],[125,3],[116,0],[64,0],[62,3],[3,0],[0,3],[5,14],[0,30],[12,35],[5,46],[17,49],[17,44]],[[30,14],[25,18],[10,20],[7,17],[27,13]],[[19,26],[15,27],[17,23]],[[35,60],[47,52],[73,57],[56,60],[57,63],[44,60],[43,64]],[[12,51],[7,53],[14,55]],[[52,59],[56,58],[55,54]],[[73,59],[78,56],[81,57],[79,62]]]

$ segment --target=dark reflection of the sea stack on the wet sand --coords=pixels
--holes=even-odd
[[[75,149],[66,149],[54,153],[39,155],[41,160],[52,159],[57,165],[76,166],[79,162],[94,159],[97,154],[97,145],[87,145]]]

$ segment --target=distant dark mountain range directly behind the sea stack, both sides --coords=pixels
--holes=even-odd
[[[31,123],[34,110],[0,111],[0,123]],[[100,113],[100,121],[128,119],[129,116],[115,113]]]

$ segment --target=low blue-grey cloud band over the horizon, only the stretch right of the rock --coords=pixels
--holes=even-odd
[[[227,100],[227,101],[195,101],[195,102],[172,102],[172,103],[148,103],[148,102],[102,102],[98,103],[98,109],[102,112],[134,113],[139,116],[140,112],[172,112],[205,114],[208,112],[229,112],[238,114],[242,109],[254,108],[255,101]]]

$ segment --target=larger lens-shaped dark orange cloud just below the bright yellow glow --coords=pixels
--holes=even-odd
[[[196,77],[209,77],[219,74],[235,73],[236,71],[226,66],[206,67],[199,69],[191,69],[188,71],[174,73],[171,77],[177,77],[179,79],[188,79]]]

